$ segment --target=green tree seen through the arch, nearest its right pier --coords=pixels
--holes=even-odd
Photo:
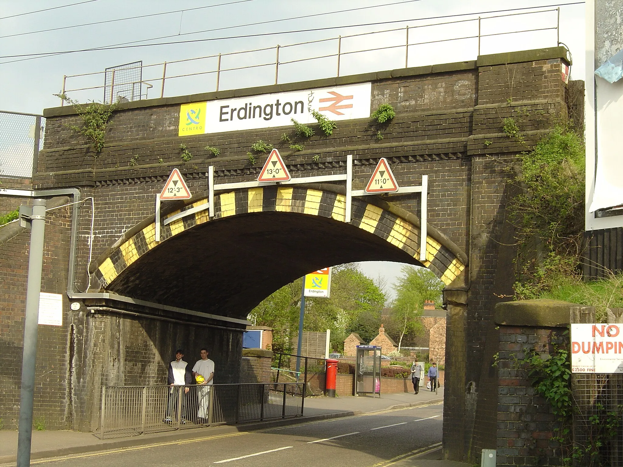
[[[439,302],[444,283],[435,274],[426,269],[413,266],[402,268],[402,276],[394,285],[396,298],[392,306],[392,322],[388,333],[398,337],[398,351],[402,346],[402,338],[411,331],[419,331],[422,324],[418,318],[422,316],[424,300]]]

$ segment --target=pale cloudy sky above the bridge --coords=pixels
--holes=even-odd
[[[210,40],[186,44],[155,45],[131,49],[97,50],[74,54],[61,54],[51,57],[7,57],[0,58],[0,82],[5,90],[0,95],[0,110],[41,113],[50,106],[57,106],[59,100],[53,96],[60,91],[64,75],[101,72],[104,68],[143,60],[143,64],[161,64],[174,60],[216,55],[219,53],[240,52],[260,48],[271,48],[277,44],[288,45],[310,40],[328,39],[338,35],[351,35],[361,32],[383,31],[411,26],[410,42],[448,39],[473,35],[477,22],[461,22],[432,27],[419,27],[434,22],[456,21],[467,17],[455,17],[416,21],[418,18],[447,16],[471,12],[486,12],[517,7],[551,5],[555,2],[545,0],[337,0],[333,2],[291,1],[291,0],[213,0],[210,2],[186,0],[171,2],[164,0],[93,0],[64,8],[9,17],[25,12],[47,9],[77,3],[85,0],[31,0],[16,2],[0,0],[0,51],[2,57],[9,55],[39,54],[67,50],[90,49],[113,44],[131,45],[153,44],[193,39],[215,39],[254,35],[268,32],[301,31],[290,34],[259,35],[237,39]],[[218,6],[221,5],[221,6]],[[190,9],[211,6],[208,8]],[[186,9],[187,11],[179,11]],[[353,11],[348,11],[353,10]],[[171,12],[177,11],[177,12]],[[114,21],[90,26],[70,27],[102,21],[112,21],[146,14],[159,16],[142,17],[127,21]],[[325,14],[327,13],[327,14]],[[320,16],[310,16],[320,15]],[[307,16],[307,17],[303,17]],[[492,16],[482,14],[481,16]],[[295,18],[298,19],[290,19]],[[584,4],[562,6],[560,12],[560,40],[569,46],[574,57],[573,75],[583,76],[584,60]],[[278,20],[285,21],[278,21]],[[402,21],[409,19],[410,21]],[[389,23],[389,21],[394,21]],[[387,22],[374,26],[327,27]],[[243,26],[249,25],[252,26]],[[503,19],[482,20],[482,33],[551,27],[556,24],[556,12],[531,16],[510,16]],[[37,32],[44,29],[69,27],[59,31]],[[228,28],[228,29],[222,29]],[[216,30],[220,29],[220,30]],[[197,32],[204,31],[204,32]],[[16,35],[21,34],[21,35]],[[342,40],[342,52],[352,52],[363,48],[404,42],[404,31],[374,34]],[[146,40],[164,37],[158,40]],[[141,42],[142,41],[142,42]],[[556,32],[541,31],[515,35],[498,35],[482,40],[482,53],[503,52],[506,50],[533,49],[556,45]],[[298,57],[335,53],[336,40],[326,40],[316,44],[285,47],[280,51],[280,61],[286,62]],[[475,59],[477,42],[475,39],[440,42],[438,44],[418,45],[409,48],[409,66],[431,63],[454,62]],[[27,59],[27,60],[24,60]],[[21,60],[21,61],[14,61]],[[273,62],[275,50],[265,50],[255,54],[239,54],[223,58],[223,67],[238,67],[249,64]],[[206,59],[186,64],[169,64],[168,74],[183,74],[207,70],[216,65],[216,59]],[[348,54],[341,59],[341,74],[361,73],[404,66],[404,47]],[[305,80],[310,77],[326,77],[335,74],[336,59],[313,60],[302,64],[282,65],[280,82]],[[150,80],[155,88],[149,97],[159,97],[159,80],[162,67],[145,70],[143,79]],[[166,95],[214,90],[215,75],[171,80],[167,83]],[[237,70],[223,73],[221,89],[250,87],[270,84],[274,80],[274,67],[259,67],[248,71]],[[90,87],[102,85],[102,75],[92,78],[70,78],[68,87]],[[9,92],[6,92],[9,90]],[[103,91],[74,93],[78,100],[101,100]]]

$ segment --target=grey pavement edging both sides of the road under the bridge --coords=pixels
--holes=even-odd
[[[341,396],[341,397],[307,397],[302,417],[272,420],[260,423],[244,423],[240,425],[219,425],[215,427],[192,428],[165,433],[126,436],[100,440],[97,433],[74,432],[71,430],[43,430],[32,432],[31,458],[45,459],[77,453],[105,451],[131,446],[145,446],[162,443],[163,441],[190,440],[204,436],[214,436],[232,432],[248,432],[265,430],[271,427],[324,420],[326,418],[350,417],[362,413],[383,412],[397,408],[416,407],[430,403],[442,403],[443,388],[439,394],[429,390],[421,390],[419,394],[397,393],[382,394],[381,397]],[[12,463],[17,456],[17,430],[0,430],[0,464]],[[400,466],[412,467],[465,467],[470,464],[440,460],[440,448],[430,452],[407,456],[401,460]]]

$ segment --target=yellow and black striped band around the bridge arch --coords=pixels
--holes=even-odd
[[[206,199],[198,200],[181,210],[165,215],[163,219],[206,203]],[[249,212],[275,211],[318,215],[343,222],[346,214],[346,197],[331,191],[283,186],[240,189],[214,196],[214,219]],[[208,211],[204,209],[163,225],[159,243],[166,242],[168,238],[192,229],[195,225],[213,220],[209,219]],[[383,238],[419,260],[420,229],[402,217],[369,204],[363,199],[353,199],[351,224]],[[148,225],[121,243],[100,263],[93,273],[95,280],[101,288],[106,288],[121,271],[159,243],[155,241],[155,224]],[[446,285],[454,281],[465,269],[465,264],[457,255],[430,235],[426,238],[426,261],[422,264],[432,270]]]

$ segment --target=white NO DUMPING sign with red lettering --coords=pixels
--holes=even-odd
[[[571,324],[572,373],[623,373],[623,324]]]

